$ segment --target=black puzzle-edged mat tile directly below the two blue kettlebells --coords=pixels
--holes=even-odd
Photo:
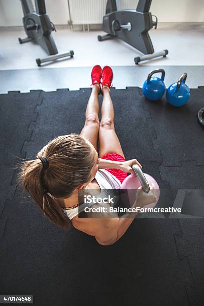
[[[149,122],[156,134],[153,145],[161,150],[164,166],[179,166],[181,161],[191,160],[204,165],[203,128],[197,125],[203,93],[203,88],[191,89],[190,99],[182,107],[171,106],[165,95],[155,102],[141,98],[144,109],[149,110]]]

